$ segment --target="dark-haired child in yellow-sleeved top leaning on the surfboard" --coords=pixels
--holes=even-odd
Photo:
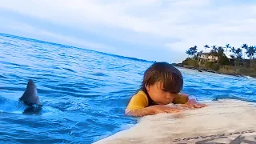
[[[178,69],[167,62],[155,62],[145,71],[141,88],[126,107],[126,115],[145,116],[182,110],[165,106],[169,103],[190,108],[206,106],[187,94],[181,94],[182,87],[183,78]]]

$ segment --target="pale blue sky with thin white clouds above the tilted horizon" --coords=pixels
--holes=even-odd
[[[1,33],[158,62],[254,46],[255,23],[253,0],[0,0]]]

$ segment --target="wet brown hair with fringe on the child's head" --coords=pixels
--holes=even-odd
[[[142,89],[155,82],[162,82],[165,91],[178,94],[183,87],[182,73],[167,62],[155,62],[144,72]]]

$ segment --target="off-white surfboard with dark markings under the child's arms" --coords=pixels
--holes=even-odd
[[[231,99],[205,103],[209,106],[202,109],[143,117],[130,129],[94,143],[256,144],[255,103]]]

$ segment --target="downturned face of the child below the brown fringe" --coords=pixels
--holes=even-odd
[[[174,101],[174,94],[163,89],[161,82],[156,82],[154,85],[146,86],[146,90],[150,98],[159,105],[166,105]]]

